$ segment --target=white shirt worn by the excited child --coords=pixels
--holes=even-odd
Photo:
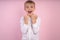
[[[41,19],[39,16],[37,17],[36,23],[32,24],[32,26],[31,26],[31,18],[29,17],[29,21],[27,25],[27,24],[24,24],[24,16],[22,16],[20,18],[22,36],[25,36],[28,39],[31,39],[34,35],[39,33],[40,24],[41,24]]]

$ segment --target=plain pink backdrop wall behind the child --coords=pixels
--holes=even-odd
[[[35,13],[41,17],[40,40],[60,40],[60,1],[34,1]],[[24,2],[0,1],[0,40],[21,40],[19,20],[26,14]]]

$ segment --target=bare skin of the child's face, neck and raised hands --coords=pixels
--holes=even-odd
[[[32,18],[32,23],[35,24],[36,23],[36,19],[37,19],[37,15],[35,15],[33,13],[34,10],[35,10],[34,4],[33,3],[26,3],[24,9],[27,12],[27,14],[24,16],[24,23],[28,24],[28,18],[31,17]],[[29,13],[28,11],[32,11],[32,12]]]

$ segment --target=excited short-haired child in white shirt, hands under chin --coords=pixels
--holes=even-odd
[[[34,14],[35,2],[26,1],[24,4],[26,15],[20,18],[22,40],[39,40],[39,27],[41,19]]]

